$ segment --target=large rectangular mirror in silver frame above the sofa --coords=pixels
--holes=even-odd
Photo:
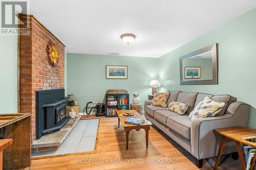
[[[180,58],[181,85],[217,84],[216,44]]]

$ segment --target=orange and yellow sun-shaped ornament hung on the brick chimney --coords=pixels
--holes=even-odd
[[[49,61],[49,64],[53,67],[56,67],[59,62],[59,51],[57,50],[57,47],[55,43],[52,41],[49,41],[47,44],[47,59]]]

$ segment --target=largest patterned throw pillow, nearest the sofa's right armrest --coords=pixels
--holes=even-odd
[[[224,107],[224,102],[215,102],[208,96],[203,101],[199,102],[195,109],[190,112],[189,118],[191,120],[196,118],[214,117]]]

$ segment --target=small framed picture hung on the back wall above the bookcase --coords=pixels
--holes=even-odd
[[[127,66],[106,65],[106,79],[127,79]]]

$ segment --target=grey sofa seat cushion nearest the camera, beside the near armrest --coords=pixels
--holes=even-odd
[[[190,140],[191,120],[188,118],[188,115],[169,116],[167,118],[167,126],[184,138]]]

